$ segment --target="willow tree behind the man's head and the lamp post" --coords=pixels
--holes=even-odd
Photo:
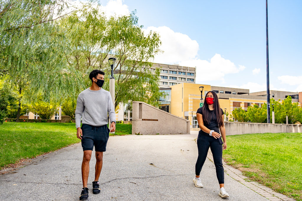
[[[159,69],[151,70],[149,61],[159,52],[160,39],[155,32],[144,33],[135,12],[106,19],[98,7],[87,4],[62,19],[61,26],[70,41],[66,58],[82,74],[85,87],[91,85],[90,71],[101,69],[109,90],[108,58],[115,57],[115,108],[129,100],[158,105]]]

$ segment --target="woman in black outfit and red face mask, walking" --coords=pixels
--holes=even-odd
[[[196,116],[201,130],[197,138],[198,158],[195,165],[196,176],[193,182],[196,187],[203,187],[199,175],[210,147],[220,186],[218,195],[222,198],[229,197],[229,194],[224,189],[224,171],[222,165],[222,150],[226,149],[226,131],[223,124],[223,110],[219,106],[218,97],[215,92],[209,91],[206,94],[204,106],[198,108]],[[221,131],[221,135],[219,130]]]

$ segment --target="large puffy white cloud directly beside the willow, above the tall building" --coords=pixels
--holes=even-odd
[[[155,56],[155,63],[178,64],[181,61],[194,59],[199,49],[198,42],[192,40],[188,35],[175,33],[169,27],[148,27],[145,33],[150,30],[159,33],[162,45],[160,49],[164,51]]]

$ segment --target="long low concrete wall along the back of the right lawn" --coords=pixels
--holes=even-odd
[[[249,133],[302,133],[301,124],[265,124],[225,121],[226,135]]]

